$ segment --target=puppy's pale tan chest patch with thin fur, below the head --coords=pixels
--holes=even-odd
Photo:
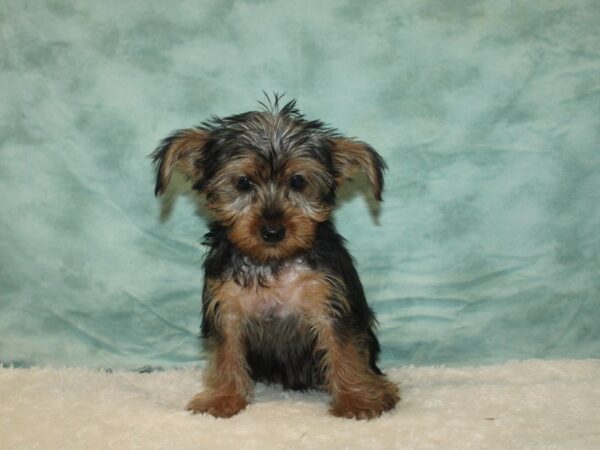
[[[241,287],[238,305],[246,317],[277,320],[303,314],[326,295],[322,274],[298,261],[276,273],[268,273],[260,283]]]

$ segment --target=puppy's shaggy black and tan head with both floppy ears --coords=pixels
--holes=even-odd
[[[260,262],[311,247],[336,188],[363,170],[381,200],[385,163],[369,145],[348,139],[275,98],[263,111],[213,118],[179,130],[153,153],[156,195],[180,170],[228,230],[232,244]]]

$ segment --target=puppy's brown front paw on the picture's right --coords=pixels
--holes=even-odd
[[[337,393],[329,412],[336,417],[368,420],[393,409],[399,401],[398,387],[382,379],[370,386]]]

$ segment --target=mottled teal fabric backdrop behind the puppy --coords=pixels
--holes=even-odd
[[[263,91],[373,145],[335,214],[383,365],[600,357],[596,0],[0,0],[0,361],[201,363],[148,154]]]

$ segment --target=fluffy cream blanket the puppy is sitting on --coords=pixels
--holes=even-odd
[[[389,371],[399,407],[327,415],[322,393],[258,385],[231,419],[184,411],[201,373],[0,369],[3,449],[597,449],[600,360]]]

